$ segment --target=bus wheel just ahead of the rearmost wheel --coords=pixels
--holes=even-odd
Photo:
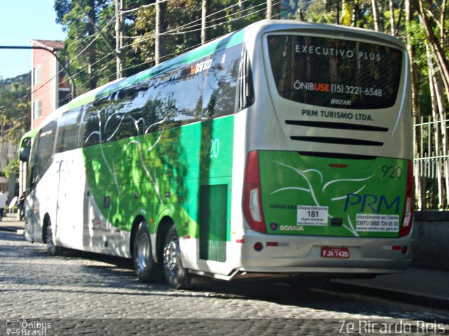
[[[152,241],[149,237],[147,223],[142,221],[135,234],[133,260],[135,273],[140,281],[154,280],[154,260],[152,257]]]

